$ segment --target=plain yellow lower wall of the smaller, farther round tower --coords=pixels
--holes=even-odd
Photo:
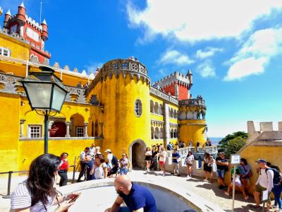
[[[192,140],[193,146],[196,146],[197,141],[200,142],[200,146],[204,144],[205,120],[188,119],[178,123],[180,124],[179,140],[184,141],[186,146],[190,140]]]

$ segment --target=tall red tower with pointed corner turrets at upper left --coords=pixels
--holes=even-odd
[[[5,14],[4,28],[9,33],[16,33],[23,37],[30,44],[30,60],[49,64],[51,54],[44,50],[45,41],[48,39],[48,26],[44,19],[41,24],[27,16],[25,5],[18,6],[16,16],[11,15],[11,11]]]

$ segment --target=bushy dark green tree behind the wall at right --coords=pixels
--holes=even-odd
[[[226,153],[226,157],[229,157],[231,154],[237,153],[245,145],[246,140],[247,133],[236,131],[233,134],[228,134],[219,141],[219,149]]]

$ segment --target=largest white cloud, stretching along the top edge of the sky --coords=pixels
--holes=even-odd
[[[273,8],[282,11],[282,1],[147,0],[147,6],[142,10],[128,1],[127,13],[131,27],[145,28],[145,40],[160,34],[195,42],[238,37],[252,28],[254,20],[269,16]]]

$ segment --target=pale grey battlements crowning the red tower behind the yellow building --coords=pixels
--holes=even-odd
[[[161,88],[165,88],[167,86],[171,86],[176,83],[189,87],[189,85],[192,84],[192,79],[190,80],[188,75],[185,76],[183,73],[180,73],[179,71],[174,71],[173,73],[162,78],[156,83],[158,83]]]

